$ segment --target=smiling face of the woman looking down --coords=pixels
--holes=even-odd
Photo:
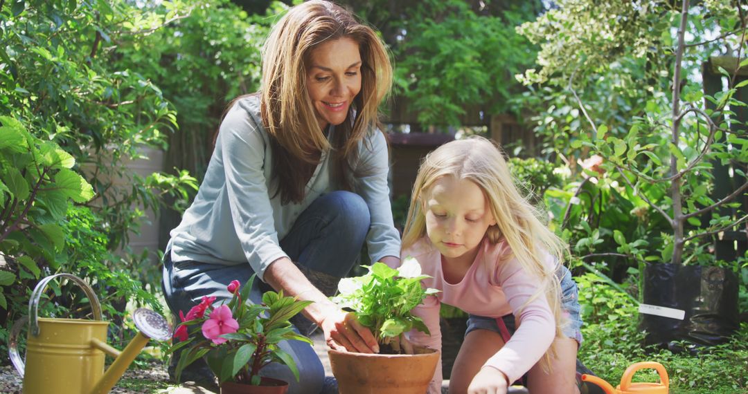
[[[361,54],[350,38],[319,44],[310,53],[307,94],[319,127],[340,125],[348,116],[353,98],[361,91]]]

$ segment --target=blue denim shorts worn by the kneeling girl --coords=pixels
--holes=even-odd
[[[582,318],[579,314],[579,294],[577,293],[577,284],[574,279],[571,278],[571,272],[565,266],[561,266],[558,271],[561,276],[561,310],[566,318],[566,324],[562,327],[561,331],[566,337],[576,340],[580,345],[582,344]],[[509,334],[514,334],[516,330],[515,316],[509,313],[502,317],[504,324],[506,325]],[[467,336],[470,331],[483,329],[494,331],[501,334],[496,319],[492,317],[470,315],[468,316],[468,329],[465,330]]]

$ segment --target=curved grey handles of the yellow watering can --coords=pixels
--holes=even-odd
[[[31,322],[29,324],[30,334],[33,334],[34,336],[39,335],[39,316],[37,316],[39,310],[39,301],[42,297],[42,294],[44,293],[44,290],[46,289],[46,285],[49,284],[49,281],[52,281],[52,279],[55,278],[70,279],[70,281],[73,281],[73,283],[81,287],[83,289],[83,292],[86,293],[88,301],[91,303],[93,319],[101,320],[101,304],[99,304],[99,298],[96,297],[96,293],[93,293],[93,289],[91,289],[91,287],[88,286],[88,284],[83,279],[71,274],[50,275],[39,281],[37,287],[34,287],[34,291],[31,293],[31,299],[28,300],[28,316],[30,316],[31,318]],[[28,322],[28,316],[24,316],[21,319],[18,319],[13,324],[13,328],[10,329],[10,335],[8,336],[7,340],[7,352],[10,355],[10,361],[13,363],[13,366],[16,367],[16,371],[18,371],[19,375],[21,376],[23,376],[25,362],[23,361],[21,355],[18,353],[18,336],[21,332],[21,328],[23,328],[23,326],[26,325],[26,322]]]

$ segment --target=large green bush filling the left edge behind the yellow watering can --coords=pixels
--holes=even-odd
[[[123,166],[141,157],[142,146],[165,148],[176,124],[159,88],[136,69],[114,66],[114,57],[120,43],[188,8],[179,1],[156,11],[125,1],[0,4],[0,285],[7,298],[0,337],[25,314],[37,280],[55,272],[88,278],[109,318],[123,316],[126,301],[159,309],[154,287],[138,280],[147,267],[133,266],[127,253],[129,235],[144,210],[196,185],[186,172],[138,177]],[[52,309],[76,308],[59,298]]]

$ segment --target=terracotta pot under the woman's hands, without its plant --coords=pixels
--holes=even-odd
[[[364,354],[328,350],[340,394],[423,394],[434,377],[439,352]]]

